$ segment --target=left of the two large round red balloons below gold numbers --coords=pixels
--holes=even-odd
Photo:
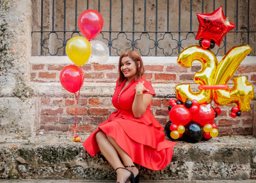
[[[169,117],[171,122],[177,125],[186,125],[191,121],[191,114],[189,113],[188,108],[182,104],[177,104],[172,107],[169,111]]]

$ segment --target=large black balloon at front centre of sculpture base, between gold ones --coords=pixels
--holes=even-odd
[[[189,122],[185,126],[185,132],[183,134],[184,141],[190,143],[196,143],[203,138],[203,130],[200,124],[196,122]]]

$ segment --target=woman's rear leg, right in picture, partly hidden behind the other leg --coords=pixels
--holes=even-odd
[[[108,136],[108,135],[106,135],[106,136],[107,136],[109,142],[113,145],[113,147],[115,147],[115,150],[120,155],[120,157],[124,163],[124,166],[131,166],[131,165],[134,166],[134,163],[133,163],[131,157],[129,157],[129,155],[124,150],[122,150],[122,148],[120,148],[120,146],[116,143],[115,139],[112,138],[111,136]],[[139,173],[138,168],[136,168],[136,167],[131,167],[131,168],[127,168],[127,169],[129,169],[133,172],[134,177],[136,177],[136,175],[138,175],[138,173]]]

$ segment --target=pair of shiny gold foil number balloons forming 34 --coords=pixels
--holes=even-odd
[[[194,81],[202,85],[228,84],[241,61],[252,51],[249,45],[233,47],[223,56],[220,63],[216,56],[209,50],[199,46],[191,46],[180,52],[177,62],[183,67],[191,67],[193,61],[200,61],[201,70],[196,72]],[[185,102],[186,100],[196,99],[200,104],[207,104],[214,99],[219,105],[235,104],[241,111],[249,111],[250,101],[254,98],[253,86],[248,83],[246,76],[238,76],[233,79],[234,86],[231,89],[223,90],[200,90],[193,92],[190,84],[178,84],[175,87],[177,99]]]

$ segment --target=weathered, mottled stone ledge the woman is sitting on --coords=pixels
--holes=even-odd
[[[86,136],[83,136],[85,139]],[[252,136],[223,136],[190,144],[178,141],[161,171],[140,167],[141,180],[247,180],[256,175]],[[70,136],[0,138],[1,179],[115,179],[101,154],[90,157]]]

